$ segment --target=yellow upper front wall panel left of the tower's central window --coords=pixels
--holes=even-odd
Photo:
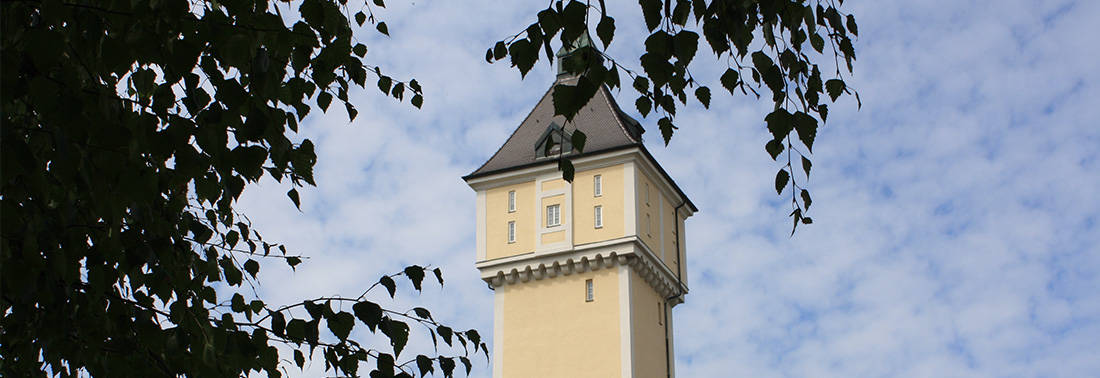
[[[516,211],[508,211],[508,192],[516,191]],[[535,180],[488,189],[485,193],[485,259],[535,252]],[[508,222],[516,222],[516,242],[508,243]]]

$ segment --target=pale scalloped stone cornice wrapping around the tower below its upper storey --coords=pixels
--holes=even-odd
[[[493,288],[521,285],[532,280],[552,279],[585,271],[625,265],[634,269],[662,298],[672,305],[683,302],[686,285],[659,260],[637,237],[628,236],[573,249],[525,254],[477,264],[482,279]]]

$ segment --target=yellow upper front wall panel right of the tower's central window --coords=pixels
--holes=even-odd
[[[625,166],[588,169],[573,176],[573,244],[602,242],[626,235],[623,196]],[[600,175],[601,196],[595,196],[594,177]],[[603,209],[603,227],[595,227],[595,207]]]

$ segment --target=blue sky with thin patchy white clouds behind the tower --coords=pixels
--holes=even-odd
[[[492,341],[492,291],[474,268],[475,194],[461,179],[538,101],[554,70],[526,78],[485,48],[543,2],[391,1],[392,37],[363,32],[366,60],[416,78],[424,109],[353,93],[360,115],[311,113],[318,187],[250,187],[239,210],[266,240],[310,258],[265,264],[261,294],[293,303],[358,296],[410,264],[446,285],[403,288],[394,308]],[[638,67],[646,32],[614,2],[609,54]],[[717,89],[646,144],[700,212],[686,224],[691,288],[673,310],[681,377],[1085,377],[1100,371],[1100,47],[1097,1],[857,1],[850,99],[831,107],[809,186],[814,224],[790,236],[790,202],[763,149],[770,101]],[[407,286],[406,286],[407,287]],[[376,336],[360,337],[378,341]],[[414,331],[413,348],[431,352]],[[405,356],[405,355],[403,355]],[[320,376],[318,360],[301,376]],[[293,373],[293,371],[292,371]],[[484,357],[473,377],[487,377]]]

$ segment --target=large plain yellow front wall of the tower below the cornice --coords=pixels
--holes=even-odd
[[[506,285],[494,300],[503,377],[620,377],[619,270]],[[593,301],[585,301],[585,280]]]

